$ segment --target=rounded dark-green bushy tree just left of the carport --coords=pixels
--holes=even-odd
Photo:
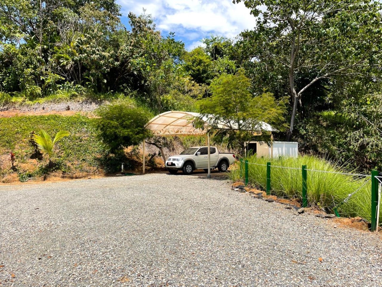
[[[145,124],[151,118],[146,109],[132,106],[126,101],[119,101],[101,106],[97,110],[97,127],[99,136],[110,148],[117,153],[131,145],[138,145],[150,137],[150,131],[145,129]]]

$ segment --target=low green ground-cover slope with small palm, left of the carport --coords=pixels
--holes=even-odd
[[[0,180],[3,182],[39,178],[47,174],[79,178],[89,174],[117,172],[120,163],[131,163],[127,158],[109,155],[97,138],[94,120],[85,116],[17,116],[0,118]],[[48,158],[35,153],[29,142],[32,131],[46,130],[52,137],[59,130],[68,130],[55,147],[55,163],[48,168]],[[16,154],[16,169],[11,170],[9,153]],[[120,156],[121,157],[121,156]],[[128,166],[129,167],[129,166]]]

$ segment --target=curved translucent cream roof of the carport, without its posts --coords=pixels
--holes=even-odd
[[[204,135],[207,129],[195,129],[192,125],[196,117],[201,116],[198,113],[182,112],[182,111],[168,111],[158,116],[153,117],[147,124],[146,129],[152,130],[154,135]],[[206,126],[209,125],[209,120],[213,115],[203,117]],[[235,124],[230,125],[235,129]],[[217,124],[219,129],[230,129],[226,123],[220,122]],[[259,131],[276,131],[272,126],[265,122],[260,122]]]

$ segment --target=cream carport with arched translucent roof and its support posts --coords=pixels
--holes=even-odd
[[[153,117],[147,122],[145,128],[152,131],[156,136],[181,136],[181,135],[204,135],[207,138],[208,151],[208,176],[211,176],[210,166],[210,134],[208,132],[211,122],[209,117],[202,117],[204,121],[204,129],[196,129],[193,126],[193,120],[200,117],[199,113],[183,112],[183,111],[168,111]],[[213,116],[212,116],[213,117]],[[216,123],[214,123],[216,124]],[[272,132],[276,131],[272,126],[265,122],[260,122],[259,132],[254,135],[261,135],[262,130],[271,132],[271,140],[273,140]],[[217,129],[237,129],[233,124],[227,124],[222,121],[217,123]],[[143,174],[145,173],[145,141],[143,140]],[[272,148],[272,145],[271,145]],[[273,148],[272,148],[273,150]]]

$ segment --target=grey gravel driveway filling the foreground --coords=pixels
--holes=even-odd
[[[223,179],[0,186],[0,218],[0,286],[382,286],[376,235]]]

